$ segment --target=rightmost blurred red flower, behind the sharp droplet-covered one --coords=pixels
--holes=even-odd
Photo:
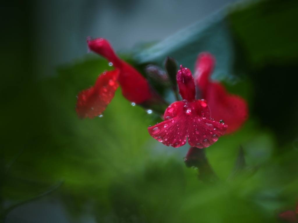
[[[214,64],[215,59],[211,54],[202,53],[198,56],[195,65],[196,85],[200,89],[199,97],[208,101],[212,118],[224,120],[229,126],[226,134],[231,134],[247,120],[248,106],[243,98],[229,94],[221,83],[210,80]]]

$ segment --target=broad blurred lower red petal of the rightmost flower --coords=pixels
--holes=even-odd
[[[210,83],[206,92],[206,100],[211,110],[212,118],[224,120],[229,126],[226,134],[237,131],[248,118],[246,100],[238,95],[230,95],[220,83]]]

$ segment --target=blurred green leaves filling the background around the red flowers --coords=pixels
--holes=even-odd
[[[52,196],[72,219],[91,213],[98,222],[274,222],[274,211],[298,198],[297,16],[297,1],[245,3],[129,58],[141,70],[165,56],[192,68],[208,50],[218,61],[213,77],[248,100],[244,127],[206,150],[221,180],[213,186],[185,167],[187,146],[166,147],[149,136],[147,126],[159,117],[131,106],[120,89],[102,118],[77,118],[75,96],[111,69],[107,61],[84,56],[40,80],[30,73],[27,48],[19,48],[21,58],[12,56],[1,83],[4,161],[26,148],[4,182],[4,198],[33,196],[63,179]],[[240,145],[247,164],[260,168],[226,182]]]

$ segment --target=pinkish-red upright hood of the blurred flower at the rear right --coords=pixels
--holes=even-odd
[[[201,98],[205,98],[204,92],[206,91],[209,83],[209,76],[211,75],[215,64],[215,58],[212,54],[204,52],[198,55],[195,63],[195,80],[197,87],[200,88]],[[209,102],[209,101],[208,101]]]

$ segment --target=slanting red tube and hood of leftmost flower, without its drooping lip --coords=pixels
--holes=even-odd
[[[103,39],[87,39],[90,50],[105,57],[120,73],[118,77],[123,96],[134,103],[141,104],[152,97],[148,81],[134,67],[121,60],[111,44]]]

